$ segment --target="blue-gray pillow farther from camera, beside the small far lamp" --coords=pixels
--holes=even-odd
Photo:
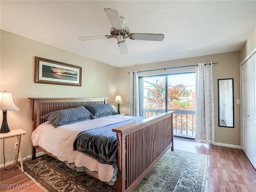
[[[84,107],[92,113],[94,118],[108,115],[118,115],[110,104],[86,105]]]

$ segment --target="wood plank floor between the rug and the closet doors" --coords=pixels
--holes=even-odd
[[[182,139],[174,149],[210,156],[209,192],[256,192],[256,170],[242,150]]]

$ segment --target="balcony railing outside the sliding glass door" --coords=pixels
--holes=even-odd
[[[195,110],[175,110],[173,115],[174,136],[195,138],[196,132],[196,111]],[[165,112],[164,109],[143,109],[143,116],[151,117]]]

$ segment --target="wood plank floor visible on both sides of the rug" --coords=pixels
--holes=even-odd
[[[256,170],[240,149],[214,146],[205,143],[174,138],[174,150],[207,154],[210,156],[209,192],[256,192]],[[43,192],[20,169],[1,171],[0,191]],[[25,189],[5,189],[6,186],[23,186]]]

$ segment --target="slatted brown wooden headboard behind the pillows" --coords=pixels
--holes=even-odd
[[[28,98],[32,105],[32,131],[45,119],[41,116],[53,111],[74,108],[85,105],[96,105],[107,103],[108,98]]]

